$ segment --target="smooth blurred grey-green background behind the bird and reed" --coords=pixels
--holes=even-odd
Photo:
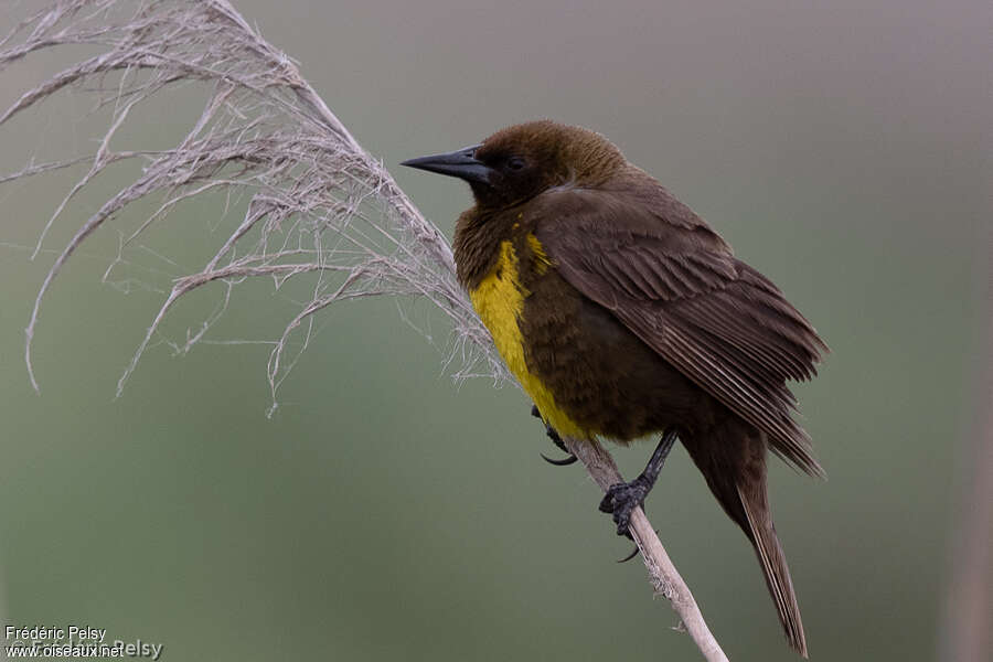
[[[0,33],[30,4],[2,3]],[[990,405],[974,389],[990,350],[985,2],[236,6],[447,233],[466,188],[395,163],[552,117],[608,136],[776,280],[833,350],[798,387],[830,480],[771,471],[812,658],[936,658],[963,449]],[[73,55],[3,72],[0,102]],[[203,97],[180,99],[128,135],[170,143]],[[92,150],[90,103],[71,92],[0,129],[2,171]],[[7,622],[107,628],[173,661],[697,659],[643,567],[613,563],[628,545],[583,470],[538,458],[521,392],[456,388],[392,301],[331,309],[271,420],[265,345],[152,349],[115,401],[162,295],[100,285],[108,226],[42,311],[35,395],[23,329],[53,256],[22,247],[71,174],[0,188]],[[121,181],[97,182],[45,246]],[[195,266],[215,213],[188,207],[156,249]],[[216,337],[271,338],[288,310],[248,286]],[[617,458],[633,474],[649,451]],[[648,509],[729,656],[793,659],[750,547],[682,449]]]

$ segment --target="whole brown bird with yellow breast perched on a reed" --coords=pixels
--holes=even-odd
[[[456,275],[553,440],[662,434],[641,476],[600,503],[618,533],[677,438],[755,547],[787,641],[807,658],[766,460],[824,476],[787,384],[829,352],[811,323],[595,131],[528,121],[402,166],[468,182]]]

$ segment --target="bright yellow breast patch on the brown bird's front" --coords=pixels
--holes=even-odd
[[[548,266],[541,243],[530,235],[532,250],[540,264],[534,265],[540,274]],[[545,421],[558,430],[559,435],[569,437],[588,437],[590,433],[573,421],[559,409],[555,398],[542,381],[527,370],[524,361],[524,337],[519,320],[524,311],[524,299],[530,292],[521,285],[520,264],[516,252],[510,242],[500,245],[500,257],[493,270],[482,279],[479,286],[469,292],[472,306],[479,313],[483,324],[490,330],[493,343],[503,356],[508,369],[524,387],[524,391],[537,405]]]

